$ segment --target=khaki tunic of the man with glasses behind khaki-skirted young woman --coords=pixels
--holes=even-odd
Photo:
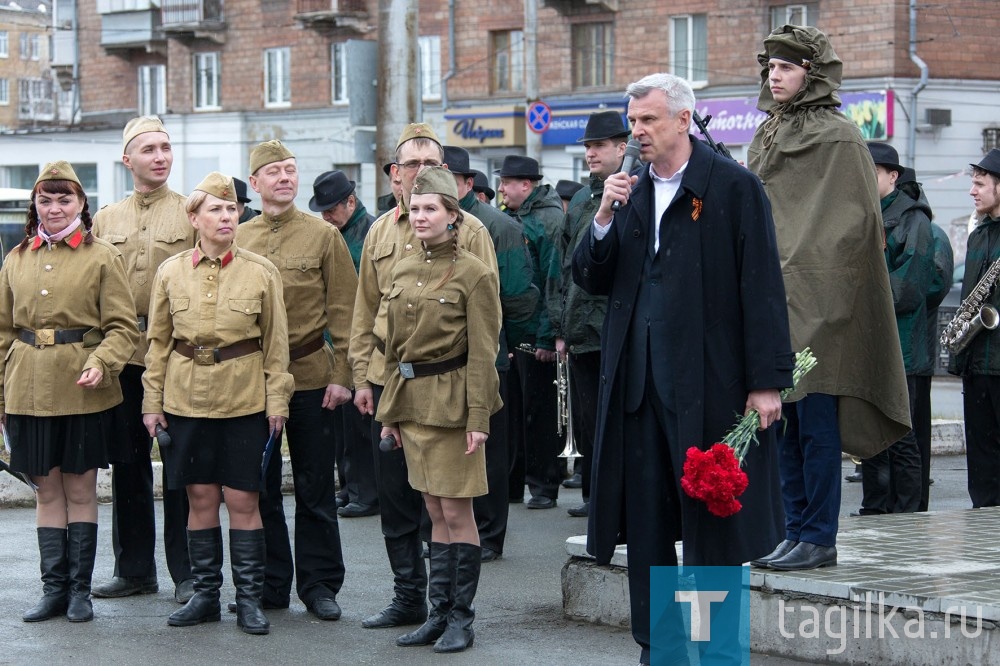
[[[458,228],[458,244],[479,257],[494,275],[497,274],[493,240],[483,223],[470,213],[463,213],[463,221]],[[386,339],[386,307],[392,289],[392,270],[402,259],[421,251],[420,241],[413,235],[410,226],[409,210],[402,201],[375,220],[368,230],[362,249],[358,295],[351,325],[350,359],[357,388],[385,385],[387,373],[382,349]],[[499,294],[499,286],[497,290]]]

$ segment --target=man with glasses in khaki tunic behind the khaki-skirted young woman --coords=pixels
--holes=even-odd
[[[442,166],[443,162],[444,148],[430,125],[407,125],[396,144],[396,162],[391,167],[391,178],[399,179],[402,185],[399,204],[375,220],[361,251],[350,358],[356,389],[354,404],[362,414],[375,415],[385,386],[386,299],[392,287],[392,269],[400,259],[421,252],[420,241],[410,226],[410,190],[421,169]],[[465,214],[459,227],[458,243],[496,272],[493,241],[483,223],[473,215]],[[377,447],[381,430],[382,424],[373,420],[373,446]],[[361,626],[374,629],[420,624],[427,619],[424,598],[427,570],[421,557],[420,541],[423,499],[409,485],[406,459],[400,448],[375,451],[375,476],[382,534],[394,576],[395,594],[387,608],[362,621]]]

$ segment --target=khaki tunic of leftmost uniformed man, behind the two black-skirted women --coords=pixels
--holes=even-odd
[[[188,221],[187,198],[166,185],[152,192],[134,191],[94,216],[94,235],[114,244],[125,260],[136,314],[149,315],[156,269],[165,260],[194,247],[197,233]],[[142,365],[146,338],[140,336],[130,363]]]

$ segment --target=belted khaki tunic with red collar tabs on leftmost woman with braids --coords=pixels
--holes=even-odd
[[[122,401],[118,375],[139,339],[132,292],[121,253],[98,238],[84,243],[82,232],[51,246],[36,236],[0,269],[0,413],[92,414]],[[76,328],[93,330],[44,348],[19,338]],[[77,386],[90,368],[104,375],[99,387]]]

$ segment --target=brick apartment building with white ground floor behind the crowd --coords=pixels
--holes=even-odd
[[[534,0],[534,29],[524,2],[419,0],[420,80],[388,82],[419,86],[421,119],[484,171],[525,152],[534,132],[548,180],[585,177],[576,139],[587,116],[624,111],[625,86],[655,71],[692,81],[713,137],[740,158],[762,119],[756,54],[786,22],[831,36],[844,60],[845,113],[917,169],[939,219],[968,214],[962,169],[1000,140],[993,0]],[[374,71],[375,49],[400,38],[379,33],[377,0],[53,4],[55,72],[76,84],[79,123],[0,134],[0,185],[63,158],[93,166],[102,201],[124,196],[120,128],[155,113],[174,141],[171,185],[180,191],[212,169],[245,177],[250,148],[270,138],[299,156],[303,204],[312,179],[333,167],[359,183],[366,202],[386,189],[373,121],[351,103],[352,92],[355,102],[359,90],[370,94],[358,86]]]

